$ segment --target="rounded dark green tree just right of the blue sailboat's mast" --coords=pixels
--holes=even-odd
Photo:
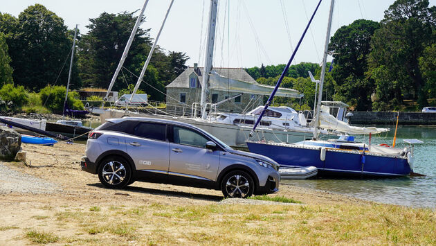
[[[329,87],[328,94],[333,96],[331,93],[336,89],[339,97],[349,104],[356,103],[354,106],[358,110],[370,109],[372,105],[370,98],[374,81],[365,73],[372,35],[378,28],[378,22],[358,19],[336,30],[329,44],[329,52],[334,54],[335,61],[332,76],[338,86],[334,89]]]

